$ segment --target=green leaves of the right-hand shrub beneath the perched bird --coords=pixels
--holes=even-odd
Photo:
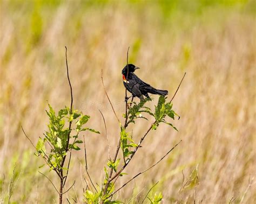
[[[145,113],[147,116],[152,116],[155,119],[155,122],[152,124],[152,129],[156,130],[159,123],[163,122],[168,125],[171,125],[172,128],[177,130],[171,123],[166,122],[165,118],[170,117],[171,119],[174,119],[174,117],[177,115],[174,110],[172,110],[172,103],[166,102],[166,97],[160,96],[158,100],[158,104],[155,106],[154,113],[151,111],[149,107],[145,106],[145,103],[151,101],[151,99],[144,99],[141,100],[138,104],[136,102],[132,103],[132,106],[127,111],[127,116],[124,114],[124,117],[126,118],[125,125],[121,125],[121,131],[120,131],[120,147],[123,151],[123,159],[124,164],[127,165],[129,161],[132,159],[134,153],[138,149],[138,144],[134,143],[134,140],[130,136],[129,132],[126,132],[126,128],[130,123],[136,123],[136,119],[138,118],[144,118],[147,119],[147,117],[142,116],[143,113]],[[178,116],[178,115],[177,115]],[[118,172],[118,166],[120,164],[120,159],[117,160],[109,160],[107,162],[107,166],[110,170],[114,172]],[[123,168],[121,168],[123,170]],[[106,167],[104,167],[105,171],[105,179],[103,182],[103,189],[106,189],[105,192],[102,194],[102,200],[104,203],[119,203],[119,201],[109,201],[108,199],[111,198],[112,193],[114,192],[114,182],[111,180],[111,175],[109,174],[109,171]],[[110,171],[111,172],[111,171]],[[118,176],[122,176],[125,173],[119,171]],[[101,195],[101,194],[99,194]],[[159,193],[158,195],[155,194],[153,199],[150,199],[151,203],[160,203],[161,199],[163,198],[163,195]],[[88,203],[93,203],[95,201],[95,194],[91,193],[90,198],[89,195],[85,195],[85,199]],[[98,199],[98,198],[97,198]],[[96,199],[96,200],[97,200]]]

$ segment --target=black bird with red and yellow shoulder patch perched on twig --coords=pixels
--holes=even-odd
[[[127,70],[127,65],[122,70],[123,82],[124,82],[124,87],[126,87],[126,82],[127,82],[127,90],[132,94],[132,98],[137,96],[139,97],[140,100],[142,100],[144,99],[143,97],[144,95],[149,99],[150,97],[148,93],[159,94],[162,96],[165,96],[168,94],[167,90],[159,90],[159,89],[153,88],[148,83],[145,83],[144,81],[139,79],[138,76],[134,74],[134,71],[136,69],[139,69],[139,67],[136,67],[132,64],[129,64],[128,67],[129,67],[129,70]],[[127,75],[127,72],[128,72],[128,75]]]

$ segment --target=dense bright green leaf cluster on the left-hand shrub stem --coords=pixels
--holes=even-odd
[[[56,115],[55,110],[53,110],[51,105],[48,104],[48,106],[49,111],[46,110],[46,113],[49,116],[48,131],[44,133],[45,137],[43,139],[39,138],[36,145],[36,155],[46,157],[51,169],[56,168],[59,170],[60,168],[63,168],[63,159],[71,149],[80,150],[80,147],[77,146],[77,144],[83,143],[82,140],[77,140],[80,132],[85,130],[95,133],[99,132],[91,128],[83,127],[90,118],[90,116],[83,115],[83,112],[78,113],[78,110],[71,112],[70,108],[65,107],[64,109],[59,110]],[[65,124],[70,124],[73,120],[76,120],[76,134],[70,137],[72,127],[69,129],[69,126]],[[72,142],[70,142],[69,137],[73,138]],[[50,146],[50,151],[48,153],[46,153],[45,143],[48,143]]]

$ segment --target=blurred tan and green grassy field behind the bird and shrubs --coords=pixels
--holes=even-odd
[[[170,1],[0,1],[0,192],[11,203],[54,203],[57,194],[38,173],[42,159],[33,143],[47,129],[47,101],[60,109],[70,104],[66,79],[68,47],[74,107],[90,115],[86,133],[92,180],[101,184],[107,162],[102,110],[113,156],[119,128],[104,94],[122,121],[125,88],[121,71],[129,62],[136,74],[174,94],[173,109],[181,116],[174,131],[160,125],[145,139],[120,186],[183,142],[161,163],[122,189],[116,198],[138,203],[157,182],[163,203],[255,203],[256,201],[256,3],[250,0]],[[148,102],[150,107],[158,100]],[[129,126],[133,139],[151,124]],[[254,121],[254,122],[253,122]],[[82,202],[83,151],[73,154],[65,199]],[[193,170],[197,169],[198,179]],[[40,171],[57,185],[54,172]],[[195,171],[194,171],[195,172]],[[194,179],[194,180],[193,180]],[[254,180],[253,180],[254,179]],[[190,182],[190,180],[192,180]],[[183,188],[186,181],[187,187]],[[195,184],[195,185],[194,185]],[[233,201],[234,200],[234,201]],[[73,200],[72,200],[73,201]]]

